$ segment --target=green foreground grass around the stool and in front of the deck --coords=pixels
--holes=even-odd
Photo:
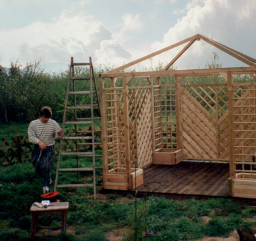
[[[69,160],[66,161],[68,164]],[[73,177],[65,178],[70,182]],[[135,219],[135,199],[131,196],[127,196],[126,202],[118,194],[93,200],[90,188],[62,188],[59,192],[59,199],[70,203],[67,226],[73,232],[39,240],[107,240],[106,232],[124,227],[127,232],[123,240],[135,240],[135,237],[137,240],[139,237],[141,240],[196,240],[203,236],[227,237],[235,228],[256,225],[255,221],[245,220],[255,216],[255,208],[225,198],[182,201],[153,196],[137,198]],[[33,202],[41,201],[40,195],[41,178],[30,162],[0,167],[0,240],[30,240],[29,208]],[[202,216],[211,220],[204,224]],[[58,226],[60,217],[42,216],[40,222]]]

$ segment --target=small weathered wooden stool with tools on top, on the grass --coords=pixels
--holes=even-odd
[[[69,209],[69,202],[51,202],[47,208],[39,208],[32,204],[30,212],[32,213],[32,239],[42,236],[57,236],[59,233],[39,234],[38,230],[38,217],[43,214],[61,214],[61,232],[66,232],[66,215]],[[44,227],[45,229],[55,229],[51,227]]]

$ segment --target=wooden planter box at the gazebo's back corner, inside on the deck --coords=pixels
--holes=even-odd
[[[175,165],[183,159],[182,150],[161,150],[153,154],[153,164]]]

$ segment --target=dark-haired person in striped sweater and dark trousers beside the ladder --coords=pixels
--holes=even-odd
[[[35,144],[31,161],[35,167],[35,172],[43,178],[43,193],[49,192],[49,185],[51,184],[55,138],[62,134],[59,124],[51,119],[52,114],[51,108],[43,107],[40,112],[40,119],[31,121],[27,131],[29,141]]]

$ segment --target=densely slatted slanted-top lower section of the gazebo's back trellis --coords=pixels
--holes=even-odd
[[[186,89],[181,94],[181,121],[183,158],[216,159],[215,119]]]

